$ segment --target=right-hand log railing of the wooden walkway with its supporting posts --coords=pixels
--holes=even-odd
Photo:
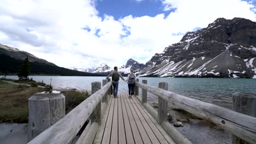
[[[167,91],[168,83],[166,82],[160,82],[159,88],[146,83],[146,80],[142,80],[142,83],[136,82],[135,95],[138,95],[138,87],[142,88],[142,98],[139,98],[139,100],[166,131],[168,131],[166,129],[167,104],[172,104],[179,107],[179,109],[216,124],[219,128],[227,130],[247,142],[256,143],[255,117]],[[158,113],[147,104],[147,91],[158,96]],[[176,142],[184,143],[181,140],[176,139]],[[187,140],[185,141],[189,143]]]

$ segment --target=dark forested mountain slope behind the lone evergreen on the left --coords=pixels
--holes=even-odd
[[[101,76],[99,74],[85,73],[77,70],[70,70],[47,62],[31,53],[20,51],[13,47],[0,44],[0,74],[17,74],[24,59],[28,57],[31,65],[31,74],[36,75],[62,75],[62,76]]]

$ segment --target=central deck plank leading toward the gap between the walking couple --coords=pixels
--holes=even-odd
[[[123,117],[124,117],[124,127],[125,127],[125,136],[126,136],[126,141],[127,141],[127,144],[134,144],[135,141],[133,139],[133,135],[132,135],[132,130],[131,130],[131,125],[130,125],[130,121],[129,121],[129,117],[127,115],[127,111],[126,111],[126,108],[125,108],[125,102],[124,102],[124,97],[125,95],[124,94],[121,94],[121,107],[122,107],[122,110],[123,110]]]

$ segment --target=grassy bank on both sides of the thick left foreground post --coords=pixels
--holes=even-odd
[[[17,83],[30,86],[17,85]],[[42,82],[0,79],[0,123],[27,123],[28,98],[43,91],[50,91],[50,88]],[[61,93],[66,97],[66,113],[89,97],[87,91],[67,90]]]

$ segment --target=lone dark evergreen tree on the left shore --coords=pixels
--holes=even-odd
[[[28,75],[30,75],[30,63],[28,61],[28,57],[24,59],[23,64],[21,65],[20,69],[18,70],[18,77],[19,80],[28,80]]]

